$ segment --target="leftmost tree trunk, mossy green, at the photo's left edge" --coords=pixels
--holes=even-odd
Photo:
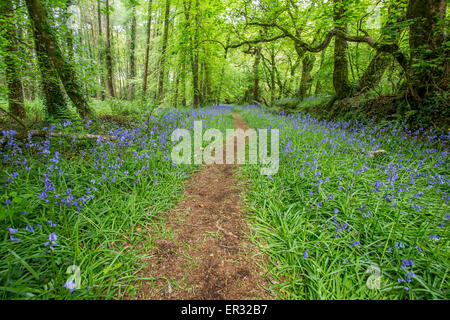
[[[25,119],[26,111],[23,99],[21,80],[22,61],[17,46],[14,8],[11,0],[2,0],[0,3],[0,28],[5,39],[2,42],[3,60],[5,63],[5,77],[8,89],[9,111],[14,116]]]

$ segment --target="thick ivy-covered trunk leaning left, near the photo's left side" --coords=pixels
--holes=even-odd
[[[66,61],[58,47],[55,36],[53,35],[53,29],[50,27],[47,20],[47,12],[39,0],[26,0],[29,16],[33,23],[36,51],[40,56],[40,67],[43,75],[43,81],[50,82],[50,91],[48,93],[59,94],[59,84],[56,74],[59,76],[64,89],[70,100],[73,102],[78,112],[82,117],[87,116],[90,112],[89,105],[86,97],[81,92],[81,87],[76,81],[75,71],[70,63]],[[48,69],[45,70],[45,69]],[[47,72],[49,72],[47,74]],[[48,78],[47,78],[48,77]],[[58,89],[57,89],[58,88]],[[62,97],[56,97],[56,100],[47,96],[51,104],[57,103],[58,99]],[[48,101],[48,102],[49,102]],[[52,107],[50,107],[52,109]]]

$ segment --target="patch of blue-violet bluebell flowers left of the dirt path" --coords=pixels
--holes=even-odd
[[[157,117],[146,116],[142,124],[132,129],[102,125],[99,130],[87,120],[79,132],[71,121],[64,121],[44,127],[43,138],[33,138],[29,134],[26,139],[18,139],[14,130],[1,131],[0,161],[5,170],[0,173],[0,179],[6,183],[0,199],[5,209],[24,213],[3,229],[7,230],[8,241],[16,246],[33,244],[33,250],[37,252],[44,246],[56,254],[56,249],[61,246],[58,239],[67,236],[64,234],[66,228],[61,227],[65,223],[64,215],[81,213],[107,185],[129,181],[133,176],[134,183],[145,178],[149,184],[158,186],[164,176],[154,170],[155,163],[158,168],[160,163],[165,163],[167,169],[178,172],[179,177],[186,177],[187,169],[173,166],[170,161],[175,144],[171,141],[172,132],[183,127],[193,130],[195,120],[202,120],[205,129],[212,125],[225,127],[230,111],[229,107],[223,106],[188,111],[173,109]],[[59,132],[70,133],[67,144],[63,144],[64,137]],[[85,133],[98,137],[92,139],[90,147],[80,150],[83,147],[77,137]],[[73,158],[83,162],[86,181],[72,181]],[[153,174],[149,175],[149,172]],[[27,180],[32,179],[27,177],[36,180]],[[27,195],[26,201],[24,198],[20,203],[12,201],[11,192],[20,197],[23,188],[30,185],[36,190],[34,195]],[[25,214],[24,206],[27,206],[28,214]],[[45,216],[38,217],[36,210],[54,211],[57,215],[46,219]],[[73,290],[71,283],[66,283],[65,287]]]

